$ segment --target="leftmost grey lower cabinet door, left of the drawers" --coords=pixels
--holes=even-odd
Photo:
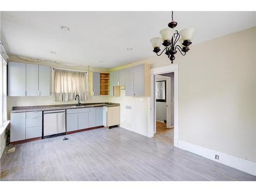
[[[11,142],[25,139],[26,113],[11,113]]]

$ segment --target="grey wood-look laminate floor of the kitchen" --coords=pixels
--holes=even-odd
[[[1,158],[3,180],[256,180],[240,170],[116,127],[14,145]]]

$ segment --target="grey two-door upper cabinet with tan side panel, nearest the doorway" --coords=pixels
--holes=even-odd
[[[150,96],[150,65],[141,64],[125,69],[125,96]]]

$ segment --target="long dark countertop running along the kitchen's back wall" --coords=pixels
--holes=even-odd
[[[119,103],[82,103],[77,104],[58,104],[58,105],[39,105],[39,106],[13,106],[11,113],[33,112],[33,111],[52,111],[52,110],[66,110],[79,108],[93,108],[97,106],[120,106]]]

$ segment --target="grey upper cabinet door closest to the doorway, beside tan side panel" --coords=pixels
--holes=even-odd
[[[144,96],[144,67],[145,65],[134,66],[134,96]]]

